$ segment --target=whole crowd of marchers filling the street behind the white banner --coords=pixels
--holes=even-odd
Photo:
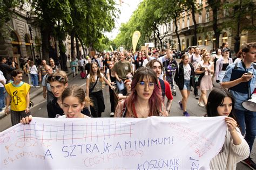
[[[86,89],[70,86],[68,75],[51,58],[49,65],[42,60],[38,66],[27,60],[23,70],[31,78],[29,83],[22,81],[23,71],[15,69],[14,62],[7,65],[6,59],[0,58],[0,93],[4,94],[6,90],[6,100],[0,98],[0,110],[6,105],[4,112],[10,112],[12,125],[29,123],[32,119],[29,91],[30,87],[38,87],[39,81],[42,82],[43,96],[47,98],[50,118],[101,117],[105,111],[103,84],[109,86],[110,116],[169,116],[174,95],[172,89],[177,85],[182,96],[179,107],[183,116],[190,116],[187,103],[191,91],[194,91],[199,107],[206,108],[207,117],[226,116],[225,143],[212,159],[211,168],[235,169],[239,161],[256,168],[249,156],[256,133],[256,113],[241,105],[256,87],[256,42],[246,44],[235,63],[228,47],[216,49],[213,56],[207,49],[190,47],[181,56],[180,63],[174,56],[167,44],[161,51],[146,46],[145,51],[135,53],[110,52],[73,58],[70,61],[72,75],[76,77],[80,72],[80,77],[86,79]],[[214,80],[221,88],[213,89]]]

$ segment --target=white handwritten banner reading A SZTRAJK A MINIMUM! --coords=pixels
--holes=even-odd
[[[0,133],[0,169],[199,169],[224,117],[36,118]]]

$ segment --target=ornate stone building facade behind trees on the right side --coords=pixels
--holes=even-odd
[[[227,1],[225,1],[227,3]],[[255,1],[254,1],[255,2]],[[197,44],[194,44],[194,23],[192,19],[192,13],[189,12],[183,12],[181,13],[180,18],[177,21],[178,25],[178,34],[180,38],[181,43],[181,51],[184,51],[189,46],[193,45],[206,45],[210,46],[211,49],[215,48],[215,36],[214,31],[212,28],[212,10],[211,7],[208,5],[207,0],[197,0],[197,13],[196,16],[196,23],[197,23]],[[228,12],[226,9],[223,9],[221,7],[221,11],[218,13],[218,27],[224,27],[223,23],[226,19],[229,19],[227,17]],[[241,25],[250,25],[250,23],[244,23],[244,21],[241,21]],[[242,26],[241,26],[242,28]],[[178,38],[175,33],[176,26],[173,22],[161,25],[159,27],[161,30],[161,34],[168,31],[169,33],[164,38],[164,42],[169,42],[173,48],[179,48],[178,45]],[[219,46],[223,42],[228,42],[230,44],[230,48],[234,48],[234,37],[236,36],[237,31],[232,29],[231,27],[226,26],[221,30],[220,38],[219,38]],[[256,41],[256,34],[253,31],[248,30],[240,30],[240,47],[242,44],[246,42],[252,42]]]

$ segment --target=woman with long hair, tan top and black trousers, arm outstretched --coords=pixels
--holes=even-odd
[[[113,90],[112,84],[100,73],[100,68],[96,62],[91,63],[90,74],[86,80],[86,96],[92,100],[91,114],[93,117],[102,117],[105,111],[104,97],[102,92],[102,82],[105,82]]]

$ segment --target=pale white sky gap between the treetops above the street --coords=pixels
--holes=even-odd
[[[106,32],[105,35],[110,39],[113,40],[116,38],[119,27],[121,26],[121,23],[126,23],[129,21],[129,19],[132,16],[132,13],[134,10],[138,8],[138,4],[142,2],[143,0],[122,0],[122,5],[120,4],[119,0],[116,0],[116,3],[118,4],[117,8],[120,10],[119,18],[116,18],[115,22],[115,29],[112,30],[112,32]]]

